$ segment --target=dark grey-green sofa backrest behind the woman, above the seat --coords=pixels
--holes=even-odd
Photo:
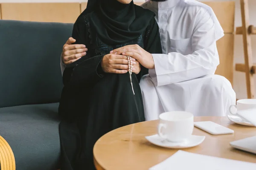
[[[0,108],[58,102],[73,24],[0,20]]]

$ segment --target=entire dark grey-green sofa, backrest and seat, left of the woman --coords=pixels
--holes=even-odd
[[[17,170],[59,167],[60,54],[72,28],[0,20],[0,135]]]

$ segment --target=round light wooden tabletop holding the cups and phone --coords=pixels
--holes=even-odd
[[[216,156],[227,159],[256,163],[256,155],[230,146],[230,142],[256,136],[256,127],[237,125],[226,117],[195,117],[195,122],[212,121],[233,129],[235,133],[210,135],[194,128],[194,135],[206,136],[204,142],[196,147],[182,149],[191,153]],[[97,170],[148,170],[177,152],[155,146],[145,136],[157,133],[158,120],[140,122],[113,130],[102,136],[94,145],[94,164]]]

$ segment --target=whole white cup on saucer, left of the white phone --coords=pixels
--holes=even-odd
[[[185,142],[193,132],[194,116],[185,111],[172,111],[159,115],[158,135],[169,142]]]

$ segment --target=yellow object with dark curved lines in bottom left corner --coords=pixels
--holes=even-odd
[[[0,136],[0,164],[1,170],[15,170],[15,158],[8,142]]]

